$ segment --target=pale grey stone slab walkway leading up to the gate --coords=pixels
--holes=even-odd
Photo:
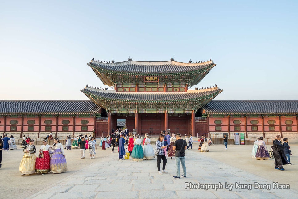
[[[84,161],[78,158],[78,161]],[[249,165],[248,165],[249,166]],[[183,175],[180,166],[180,175]],[[134,162],[119,160],[118,153],[94,159],[90,166],[59,179],[29,198],[297,198],[292,189],[274,189],[273,182],[201,155],[196,149],[186,151],[187,178],[174,179],[176,161],[168,158],[167,174],[158,174],[156,158]],[[280,175],[280,174],[278,174]],[[278,176],[277,176],[278,178]],[[278,179],[277,179],[278,181]],[[185,189],[185,183],[222,184],[204,190]],[[233,185],[229,190],[226,184]],[[238,188],[236,184],[238,184]],[[254,183],[266,188],[254,188]],[[252,187],[250,188],[249,185]],[[240,188],[244,186],[243,188]]]

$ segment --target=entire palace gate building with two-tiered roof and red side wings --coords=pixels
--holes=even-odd
[[[298,143],[298,101],[213,100],[221,90],[200,81],[216,66],[199,63],[91,60],[88,66],[107,87],[87,85],[90,100],[0,100],[0,132],[16,138],[90,134],[126,126],[143,135],[243,132],[246,137],[282,134]],[[194,90],[189,87],[198,85]]]

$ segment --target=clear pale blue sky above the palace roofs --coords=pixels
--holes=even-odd
[[[217,100],[298,100],[298,1],[0,1],[0,100],[79,100],[87,63],[205,61]],[[194,87],[192,89],[194,89]]]

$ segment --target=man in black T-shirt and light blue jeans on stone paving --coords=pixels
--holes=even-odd
[[[178,133],[176,134],[176,141],[173,145],[173,150],[180,151],[179,157],[176,156],[176,167],[177,167],[177,174],[176,176],[173,176],[175,179],[180,178],[180,161],[182,165],[183,175],[182,177],[186,178],[186,167],[185,167],[185,149],[187,148],[186,141],[184,139],[181,139],[181,135]]]

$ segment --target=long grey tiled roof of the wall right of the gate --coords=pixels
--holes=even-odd
[[[298,114],[298,101],[213,100],[202,107],[207,114]]]

